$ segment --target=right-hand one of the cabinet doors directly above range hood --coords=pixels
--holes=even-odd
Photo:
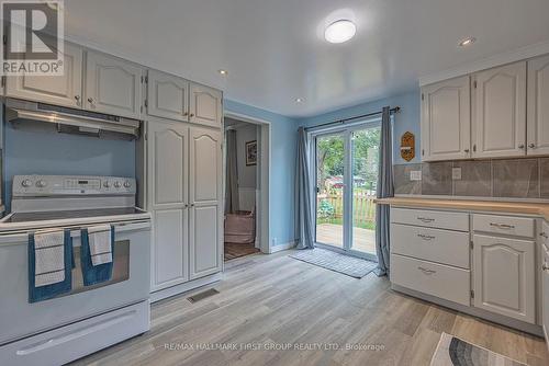
[[[85,107],[138,119],[141,106],[142,68],[120,58],[88,52]]]

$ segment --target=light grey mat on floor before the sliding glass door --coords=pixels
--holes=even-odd
[[[300,250],[290,256],[355,278],[362,278],[378,267],[376,262],[322,248]]]

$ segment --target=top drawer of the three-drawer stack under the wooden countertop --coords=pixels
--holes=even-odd
[[[392,208],[391,222],[469,231],[469,214],[415,208]]]

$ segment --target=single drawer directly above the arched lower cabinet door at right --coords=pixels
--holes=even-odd
[[[497,215],[473,215],[473,230],[534,238],[534,219]]]

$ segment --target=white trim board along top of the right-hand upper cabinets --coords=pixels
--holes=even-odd
[[[432,84],[438,81],[448,80],[464,75],[486,70],[496,66],[516,62],[528,58],[549,54],[549,41],[535,43],[506,53],[481,58],[479,60],[463,64],[459,67],[434,72],[419,78],[419,87]]]

